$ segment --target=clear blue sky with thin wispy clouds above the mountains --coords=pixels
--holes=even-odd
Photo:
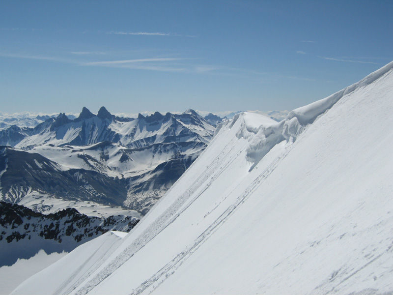
[[[2,113],[292,110],[393,60],[393,1],[0,1]]]

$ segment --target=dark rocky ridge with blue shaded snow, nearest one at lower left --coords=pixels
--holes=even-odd
[[[139,219],[117,215],[89,217],[67,208],[44,215],[27,207],[0,202],[0,266],[46,253],[70,252],[108,231],[130,231]]]

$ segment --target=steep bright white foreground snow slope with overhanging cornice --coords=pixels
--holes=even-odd
[[[392,68],[279,123],[226,121],[111,251],[86,243],[14,293],[392,292]]]

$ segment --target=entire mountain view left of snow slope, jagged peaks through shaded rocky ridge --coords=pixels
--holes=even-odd
[[[20,126],[0,131],[0,266],[130,231],[216,129],[193,110],[119,118],[83,108],[71,118],[8,119]]]

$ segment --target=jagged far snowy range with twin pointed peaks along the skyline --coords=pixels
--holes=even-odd
[[[193,110],[180,115],[167,113],[165,116],[156,112],[133,119],[115,117],[105,107],[97,115],[84,107],[79,117],[73,120],[62,113],[34,128],[22,128],[19,137],[14,135],[13,142],[6,141],[7,130],[0,131],[0,145],[25,149],[43,144],[87,146],[104,141],[127,148],[142,148],[173,142],[175,138],[177,142],[198,140],[207,144],[214,133],[214,127]],[[14,130],[14,133],[17,132]]]

